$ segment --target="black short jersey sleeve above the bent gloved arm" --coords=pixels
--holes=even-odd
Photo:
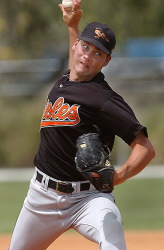
[[[142,131],[147,137],[147,129],[137,120],[133,110],[118,94],[113,95],[101,107],[101,119],[105,127],[131,144]]]

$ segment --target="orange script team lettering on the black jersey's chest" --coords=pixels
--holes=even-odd
[[[73,126],[80,122],[78,114],[79,105],[74,104],[70,107],[68,103],[64,103],[64,98],[59,97],[56,102],[52,103],[48,100],[43,112],[41,127],[50,126]]]

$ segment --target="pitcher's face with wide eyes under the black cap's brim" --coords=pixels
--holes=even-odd
[[[111,59],[93,44],[83,40],[76,41],[72,49],[74,50],[74,68],[71,70],[78,81],[91,80]]]

